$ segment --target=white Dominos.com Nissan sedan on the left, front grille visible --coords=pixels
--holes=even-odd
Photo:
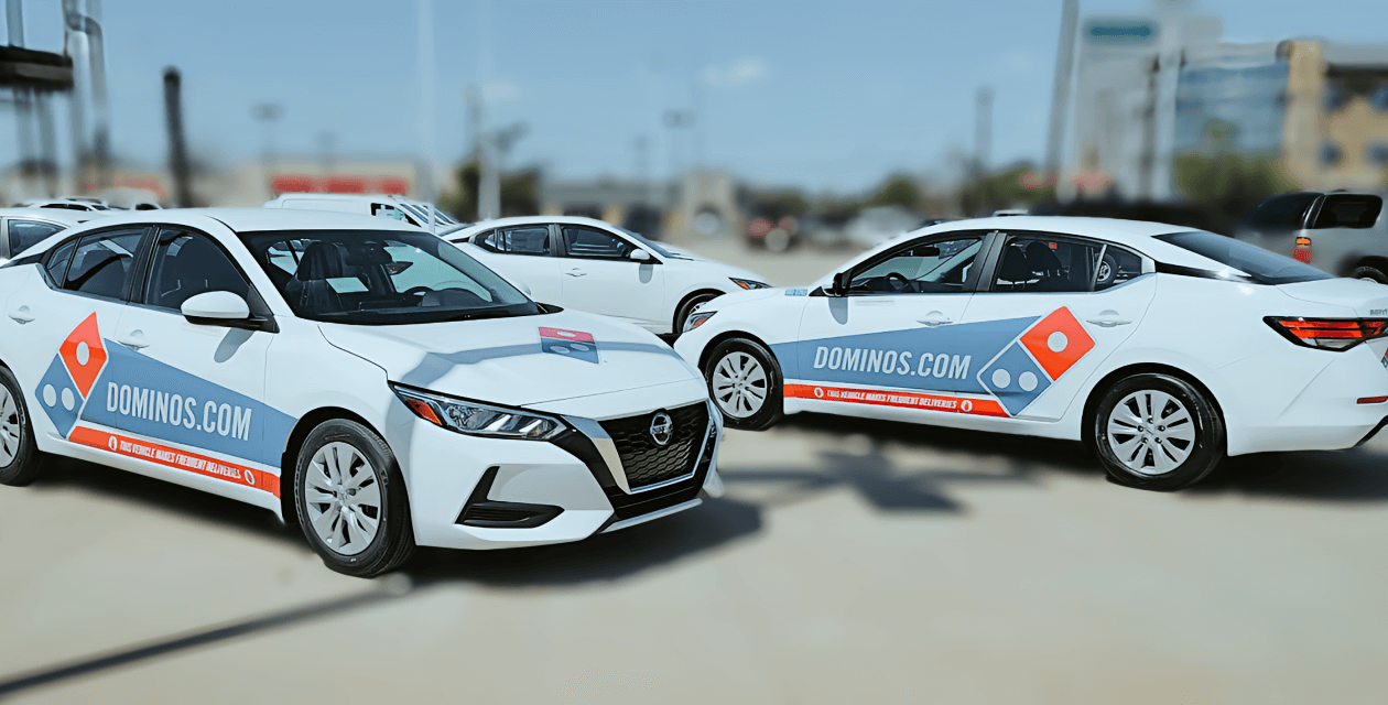
[[[389,219],[114,215],[0,266],[0,484],[44,454],[160,477],[297,522],[343,573],[720,493],[720,416],[668,346]]]

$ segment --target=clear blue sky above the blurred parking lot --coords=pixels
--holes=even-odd
[[[1384,0],[1178,4],[1220,17],[1228,42],[1388,40]],[[283,107],[279,154],[322,158],[329,144],[339,161],[428,153],[454,162],[472,140],[472,85],[487,96],[490,126],[526,125],[505,165],[552,179],[638,176],[643,137],[654,176],[701,165],[837,194],[892,172],[944,179],[973,148],[980,86],[994,93],[990,164],[1044,153],[1060,0],[430,6],[432,119],[421,108],[418,0],[103,3],[114,151],[144,168],[167,161],[161,74],[174,65],[190,150],[218,167],[260,158],[260,103]],[[61,50],[60,7],[24,0],[31,49]],[[1080,0],[1081,18],[1153,7]],[[666,126],[672,110],[693,110],[694,125]],[[0,103],[0,168],[18,157],[15,135]]]

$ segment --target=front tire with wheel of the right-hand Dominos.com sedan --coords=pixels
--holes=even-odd
[[[704,379],[708,380],[713,404],[718,404],[729,426],[762,430],[780,419],[780,366],[761,343],[745,337],[719,343],[708,357]]]

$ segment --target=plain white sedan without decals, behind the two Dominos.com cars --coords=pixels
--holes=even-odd
[[[443,237],[525,283],[536,301],[620,318],[657,334],[679,333],[705,301],[768,286],[747,269],[591,218],[501,218]]]

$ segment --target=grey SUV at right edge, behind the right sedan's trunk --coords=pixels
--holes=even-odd
[[[1337,276],[1388,284],[1388,216],[1378,194],[1277,194],[1258,204],[1234,236]]]

